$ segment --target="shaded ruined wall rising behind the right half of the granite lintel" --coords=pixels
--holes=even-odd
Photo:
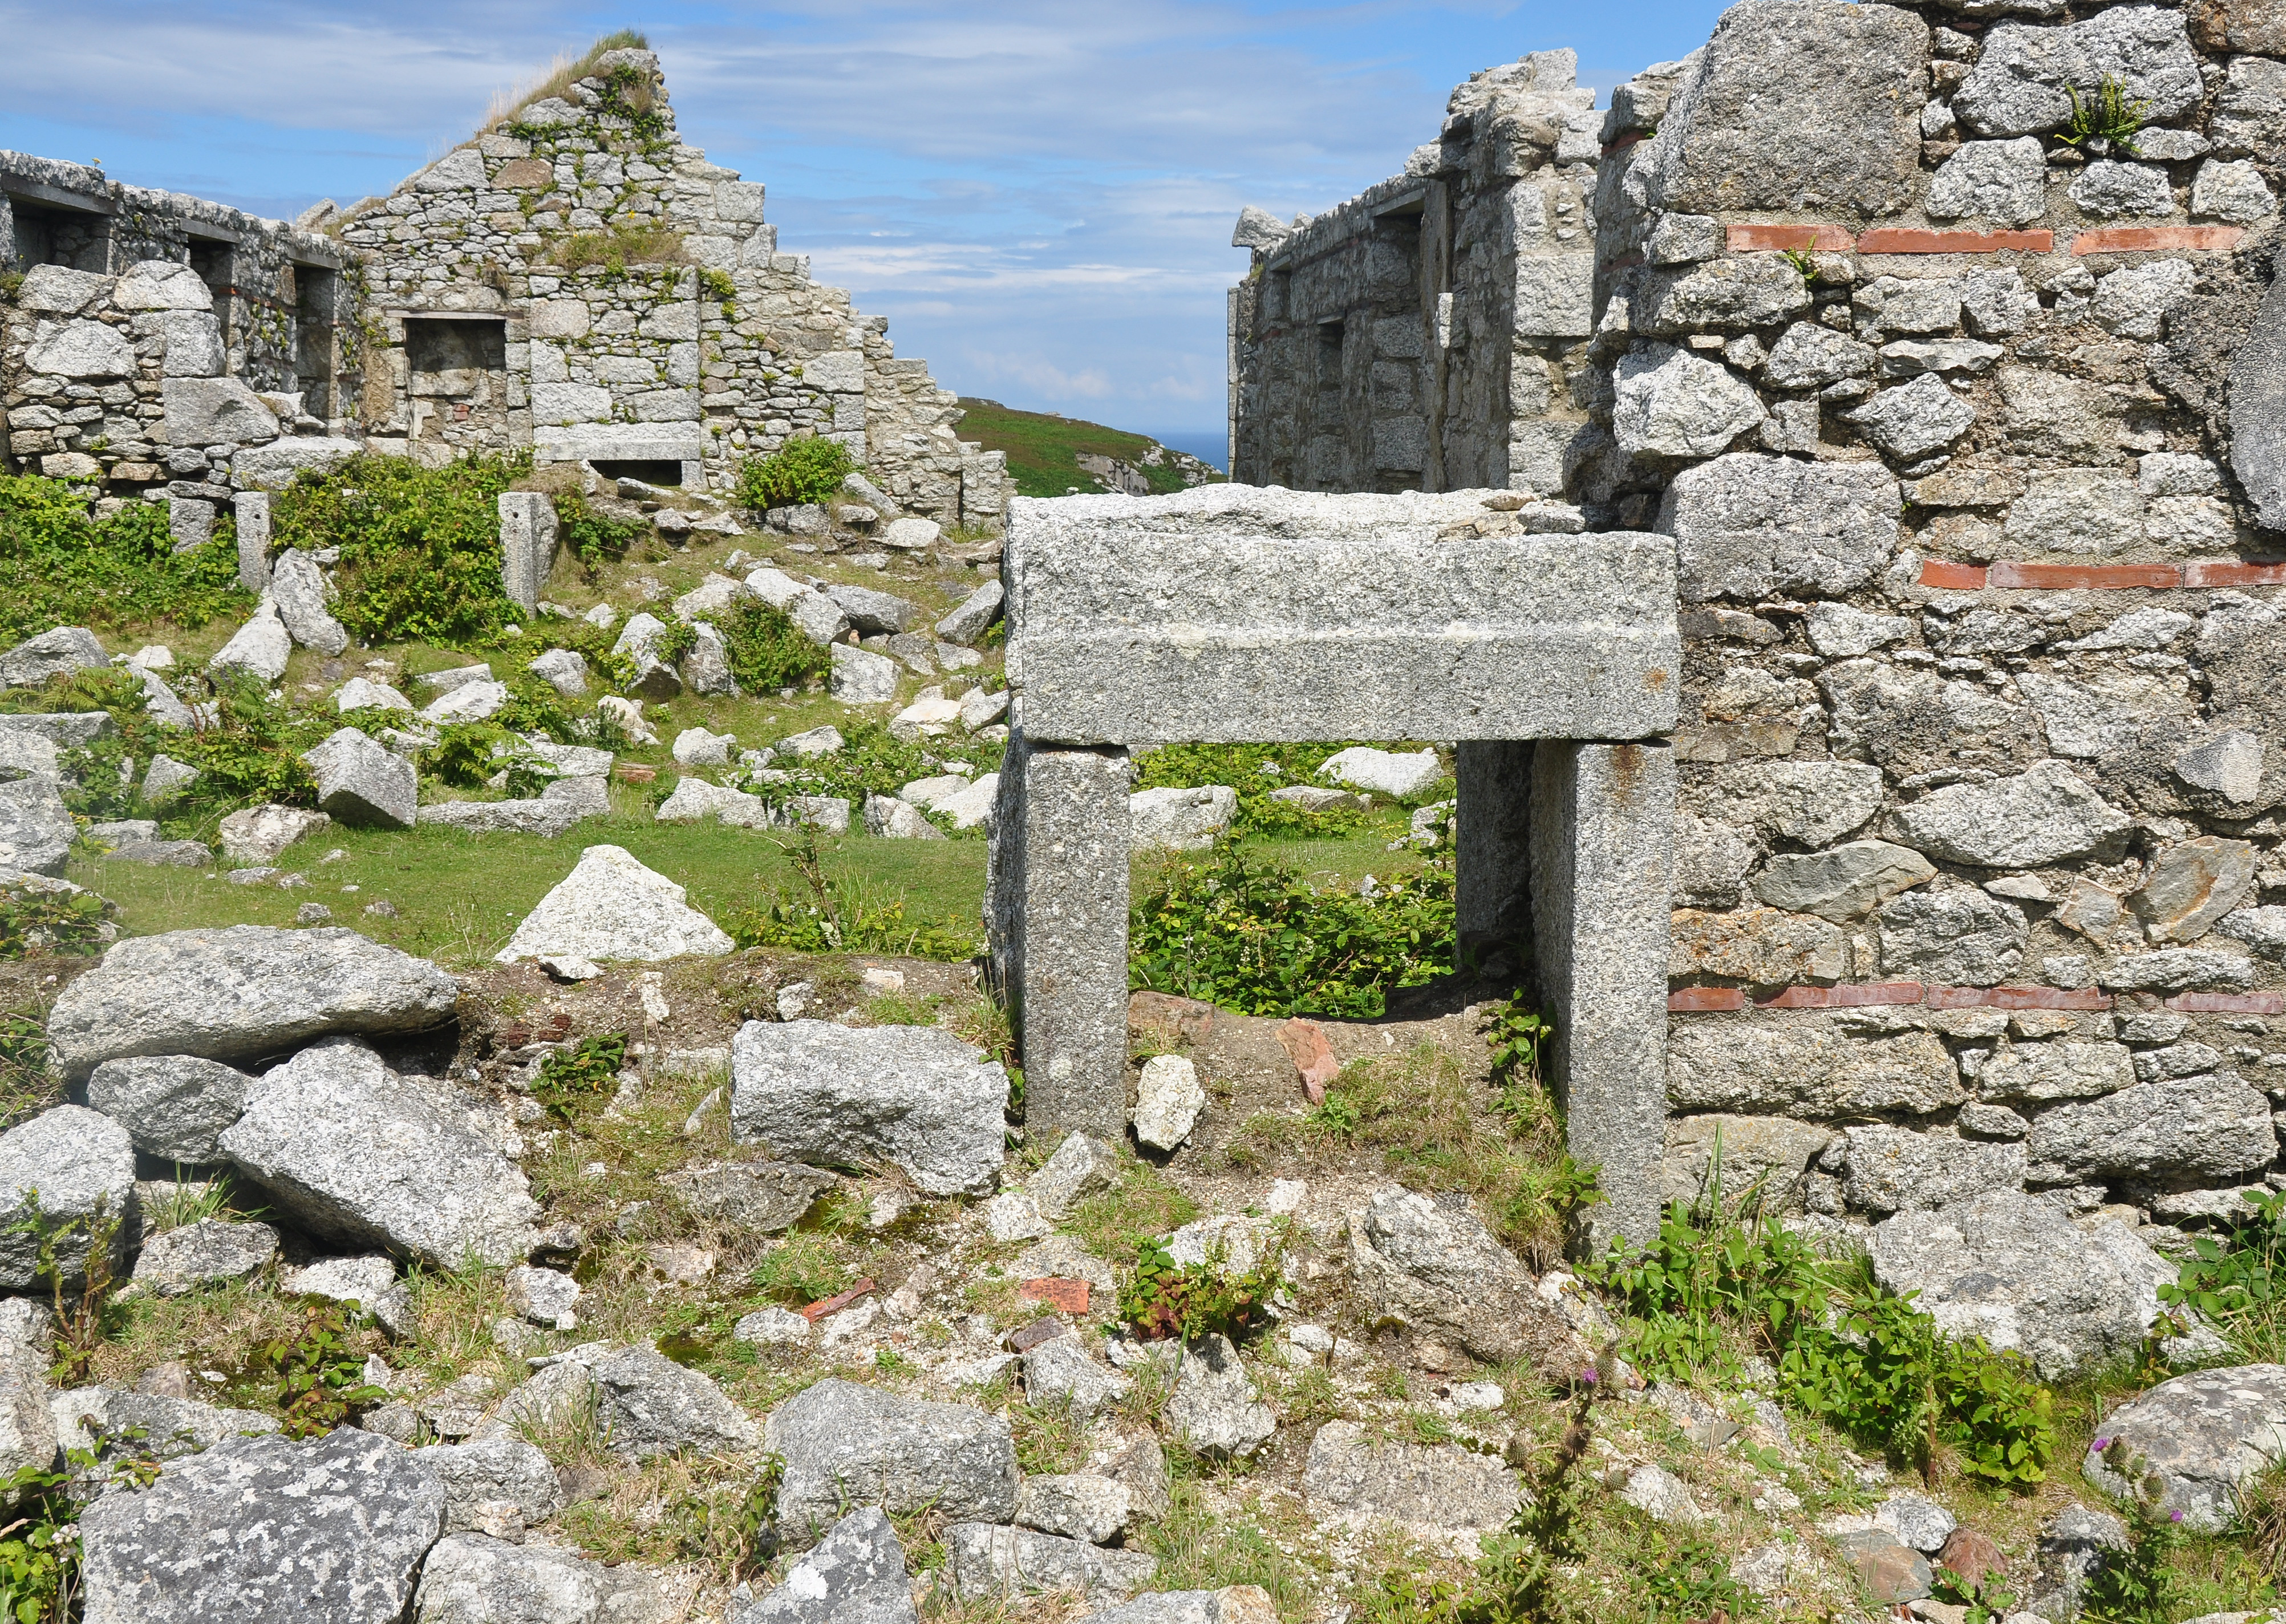
[[[1593,333],[1602,153],[1573,53],[1454,91],[1442,142],[1317,219],[1239,224],[1230,297],[1232,480],[1298,491],[1564,482],[1584,413],[1566,372]]]

